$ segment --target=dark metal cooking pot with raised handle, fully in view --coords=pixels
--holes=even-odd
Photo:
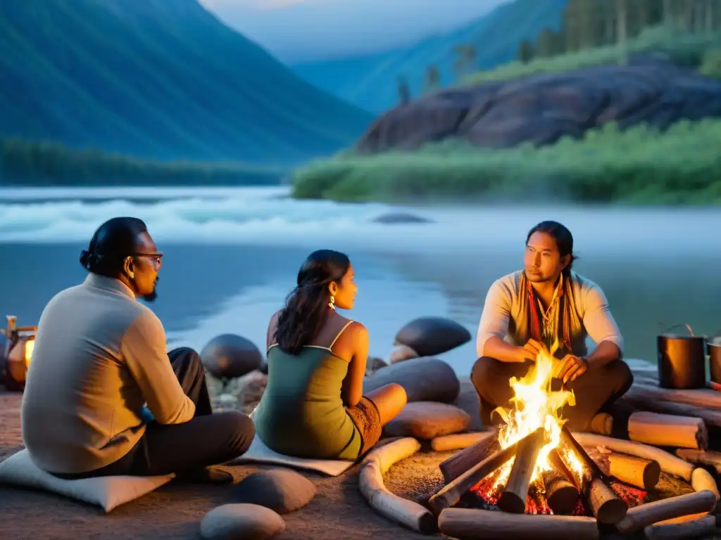
[[[677,326],[685,326],[691,335],[668,333]],[[694,330],[689,325],[673,325],[671,328],[656,339],[659,386],[676,390],[705,388],[706,336],[694,336]]]

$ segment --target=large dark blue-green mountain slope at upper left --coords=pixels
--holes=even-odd
[[[0,135],[161,160],[290,163],[361,135],[196,0],[1,0]]]

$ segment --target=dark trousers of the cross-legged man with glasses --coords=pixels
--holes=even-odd
[[[195,417],[172,425],[151,420],[138,443],[117,462],[83,474],[56,476],[74,479],[182,474],[230,461],[247,451],[255,437],[253,421],[236,411],[213,414],[198,353],[191,348],[177,348],[168,356],[185,395],[195,403]]]

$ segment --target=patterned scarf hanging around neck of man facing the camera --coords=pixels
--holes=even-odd
[[[558,352],[562,354],[568,354],[572,351],[571,324],[576,314],[571,281],[570,278],[561,276],[553,300],[545,313],[534,288],[531,286],[531,282],[528,281],[524,272],[521,272],[520,287],[518,287],[519,293],[525,296],[528,301],[530,337],[545,343],[549,348],[558,340]]]

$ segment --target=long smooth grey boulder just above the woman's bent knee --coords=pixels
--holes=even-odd
[[[384,367],[363,381],[363,392],[395,382],[406,391],[408,401],[453,402],[461,384],[453,368],[436,358],[415,358]]]

